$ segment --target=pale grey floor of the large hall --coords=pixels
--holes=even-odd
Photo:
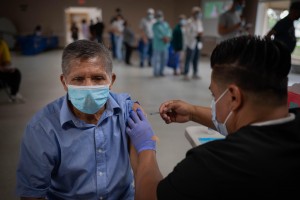
[[[21,93],[26,98],[26,103],[8,103],[4,91],[0,91],[0,199],[18,199],[14,195],[15,171],[26,123],[41,107],[64,95],[59,80],[61,53],[61,50],[53,50],[36,56],[13,54],[14,65],[23,75]],[[210,105],[210,68],[207,57],[200,61],[201,80],[191,81],[184,81],[181,76],[173,76],[173,71],[169,68],[165,70],[165,77],[154,78],[152,68],[139,68],[138,59],[133,59],[133,63],[134,66],[130,67],[123,63],[114,63],[117,79],[113,91],[131,94],[147,113],[158,111],[160,104],[168,99]],[[300,82],[300,74],[290,74],[290,84],[294,82]],[[189,122],[166,125],[159,115],[148,115],[148,118],[160,139],[157,157],[165,176],[191,148],[185,139],[184,130],[186,126],[195,124]]]

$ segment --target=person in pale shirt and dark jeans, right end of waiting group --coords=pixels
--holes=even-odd
[[[189,80],[190,63],[193,63],[193,79],[200,79],[198,62],[202,49],[201,37],[203,34],[202,12],[200,7],[192,8],[192,16],[185,27],[186,55],[184,64],[184,80]]]

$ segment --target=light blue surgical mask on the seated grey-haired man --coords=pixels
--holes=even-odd
[[[109,85],[68,85],[69,100],[83,113],[94,114],[104,106],[109,95]]]

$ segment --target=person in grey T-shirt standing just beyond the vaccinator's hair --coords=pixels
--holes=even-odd
[[[221,41],[239,35],[245,25],[241,19],[244,7],[245,0],[233,0],[230,9],[219,16],[218,33],[221,35]]]

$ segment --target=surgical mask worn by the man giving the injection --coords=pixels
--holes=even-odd
[[[218,103],[218,101],[220,101],[220,99],[221,99],[227,92],[228,92],[228,89],[226,89],[216,101],[213,99],[212,102],[211,102],[212,122],[214,123],[214,125],[215,125],[217,131],[218,131],[220,134],[224,135],[224,136],[228,135],[228,131],[227,131],[227,128],[226,128],[226,122],[227,122],[227,120],[229,119],[229,117],[231,116],[232,111],[228,114],[228,116],[226,117],[224,123],[220,123],[220,122],[218,122],[218,120],[217,120],[216,104]]]

